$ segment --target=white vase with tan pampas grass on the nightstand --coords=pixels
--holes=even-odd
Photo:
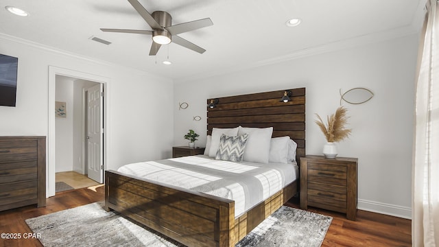
[[[344,128],[348,124],[347,111],[346,108],[340,106],[333,115],[327,117],[327,124],[324,124],[322,118],[316,114],[318,120],[315,122],[327,139],[327,143],[323,146],[323,154],[327,158],[335,158],[337,156],[337,145],[335,143],[348,138],[351,134],[351,129]]]

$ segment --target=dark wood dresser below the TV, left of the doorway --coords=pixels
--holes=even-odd
[[[46,206],[46,137],[0,137],[0,211]]]

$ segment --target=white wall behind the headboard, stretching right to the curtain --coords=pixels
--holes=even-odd
[[[322,154],[314,113],[326,117],[340,106],[339,90],[365,87],[369,102],[348,108],[352,135],[338,143],[339,156],[359,158],[358,208],[411,217],[414,77],[418,36],[351,47],[174,86],[174,145],[186,145],[189,128],[205,145],[206,99],[306,87],[307,154]],[[194,93],[195,92],[195,93]],[[279,98],[282,95],[279,95]],[[178,110],[187,102],[187,110]],[[193,121],[200,115],[202,121]]]

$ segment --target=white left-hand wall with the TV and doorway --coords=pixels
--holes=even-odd
[[[100,45],[93,44],[91,45]],[[16,107],[0,106],[0,135],[48,133],[49,65],[109,78],[107,169],[169,158],[174,139],[173,82],[150,73],[46,49],[0,34],[0,53],[19,58]],[[158,104],[160,103],[160,104]]]

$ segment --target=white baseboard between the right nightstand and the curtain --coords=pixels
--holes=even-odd
[[[374,213],[383,213],[385,215],[392,215],[412,220],[412,208],[410,207],[402,207],[399,205],[359,199],[357,209]]]

